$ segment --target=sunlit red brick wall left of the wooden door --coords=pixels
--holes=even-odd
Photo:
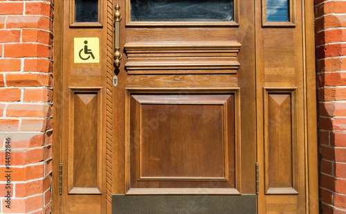
[[[50,0],[0,0],[0,213],[51,211],[52,21]]]

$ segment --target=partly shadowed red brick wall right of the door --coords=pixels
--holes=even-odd
[[[346,1],[315,0],[322,213],[346,213]]]

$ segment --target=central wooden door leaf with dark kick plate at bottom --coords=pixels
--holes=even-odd
[[[253,2],[233,1],[228,21],[174,8],[212,12],[215,1],[113,2],[113,213],[255,213]]]

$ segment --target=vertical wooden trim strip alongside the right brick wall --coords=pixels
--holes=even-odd
[[[318,133],[316,108],[316,58],[315,58],[315,17],[313,0],[302,1],[302,36],[303,36],[303,71],[306,96],[306,121],[304,121],[304,138],[306,139],[307,155],[305,161],[305,175],[307,176],[306,204],[309,213],[318,213]],[[305,56],[305,57],[304,57]]]

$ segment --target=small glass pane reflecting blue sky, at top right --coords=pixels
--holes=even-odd
[[[266,21],[289,21],[289,0],[266,0]]]

